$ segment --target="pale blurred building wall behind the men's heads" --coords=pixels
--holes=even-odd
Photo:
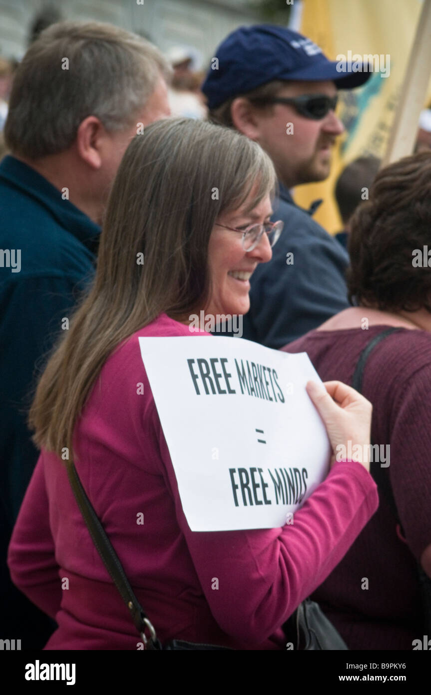
[[[144,33],[162,51],[192,48],[196,67],[205,67],[230,31],[261,21],[247,0],[144,0],[143,5],[136,0],[0,0],[0,55],[22,58],[33,19],[49,4],[64,19],[96,19]]]

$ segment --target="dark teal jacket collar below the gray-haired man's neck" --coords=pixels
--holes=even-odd
[[[37,200],[62,227],[94,252],[94,245],[101,233],[99,224],[90,220],[69,200],[63,200],[61,190],[49,183],[32,167],[8,154],[0,163],[0,179],[12,183],[15,188],[21,189],[26,195]],[[66,183],[67,174],[65,174]]]

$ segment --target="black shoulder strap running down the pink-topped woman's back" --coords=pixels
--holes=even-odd
[[[130,611],[133,623],[135,623],[135,628],[140,633],[144,641],[144,647],[146,649],[160,649],[160,644],[155,635],[155,630],[144,613],[140,602],[133,593],[132,587],[130,587],[128,578],[126,577],[117,553],[115,553],[112,543],[106,535],[99,517],[97,516],[96,512],[94,512],[92,503],[87,498],[87,494],[85,493],[83,484],[81,483],[73,461],[65,461],[65,464],[71,489],[74,491],[76,502],[78,502],[78,507],[81,509],[81,514],[83,515],[84,521],[87,524],[90,536],[92,537],[94,545],[96,546],[97,551],[103,560],[103,564],[110,573],[115,586],[119,590],[121,598],[124,600],[124,603],[126,603],[126,606]],[[149,640],[144,634],[146,628],[149,628]]]

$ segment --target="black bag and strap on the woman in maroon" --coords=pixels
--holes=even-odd
[[[366,365],[366,361],[369,359],[371,352],[373,352],[375,346],[378,345],[380,341],[382,341],[387,336],[391,335],[391,333],[396,333],[400,330],[402,329],[394,327],[387,328],[386,330],[379,333],[377,336],[374,336],[374,338],[371,339],[368,345],[364,347],[364,350],[362,350],[360,357],[357,361],[355,372],[353,373],[352,378],[353,389],[356,389],[358,393],[362,393],[362,379],[364,376],[364,367]],[[389,478],[389,473],[387,472],[386,468],[382,468],[382,466],[379,465],[378,461],[371,461],[370,473],[373,477],[375,484],[378,486],[379,493],[382,493],[382,496],[387,501],[389,509],[391,509],[392,515],[394,516],[394,519],[400,528],[401,534],[404,536],[405,534],[403,531],[403,525],[401,524],[400,518],[398,516],[398,509],[396,508],[396,502],[394,498],[394,493],[391,488],[391,480]],[[423,629],[425,630],[423,634],[431,635],[431,579],[423,571],[419,562],[416,562],[416,571],[418,574],[419,588],[421,591],[421,603],[423,608]]]

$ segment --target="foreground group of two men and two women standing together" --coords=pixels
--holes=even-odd
[[[337,185],[337,239],[292,189],[328,177],[344,131],[337,92],[370,73],[342,74],[271,25],[237,29],[215,56],[205,103],[189,56],[109,24],[56,22],[15,70],[0,163],[3,635],[22,648],[136,648],[67,459],[162,642],[284,649],[312,596],[348,648],[412,649],[426,619],[419,574],[431,578],[431,276],[428,256],[412,263],[428,249],[431,152],[379,172],[373,158],[353,163]],[[330,472],[293,525],[189,528],[139,338],[214,340],[190,331],[201,311],[307,352],[324,382],[307,393]],[[371,444],[386,448],[393,504]],[[352,446],[362,454],[336,455]]]

